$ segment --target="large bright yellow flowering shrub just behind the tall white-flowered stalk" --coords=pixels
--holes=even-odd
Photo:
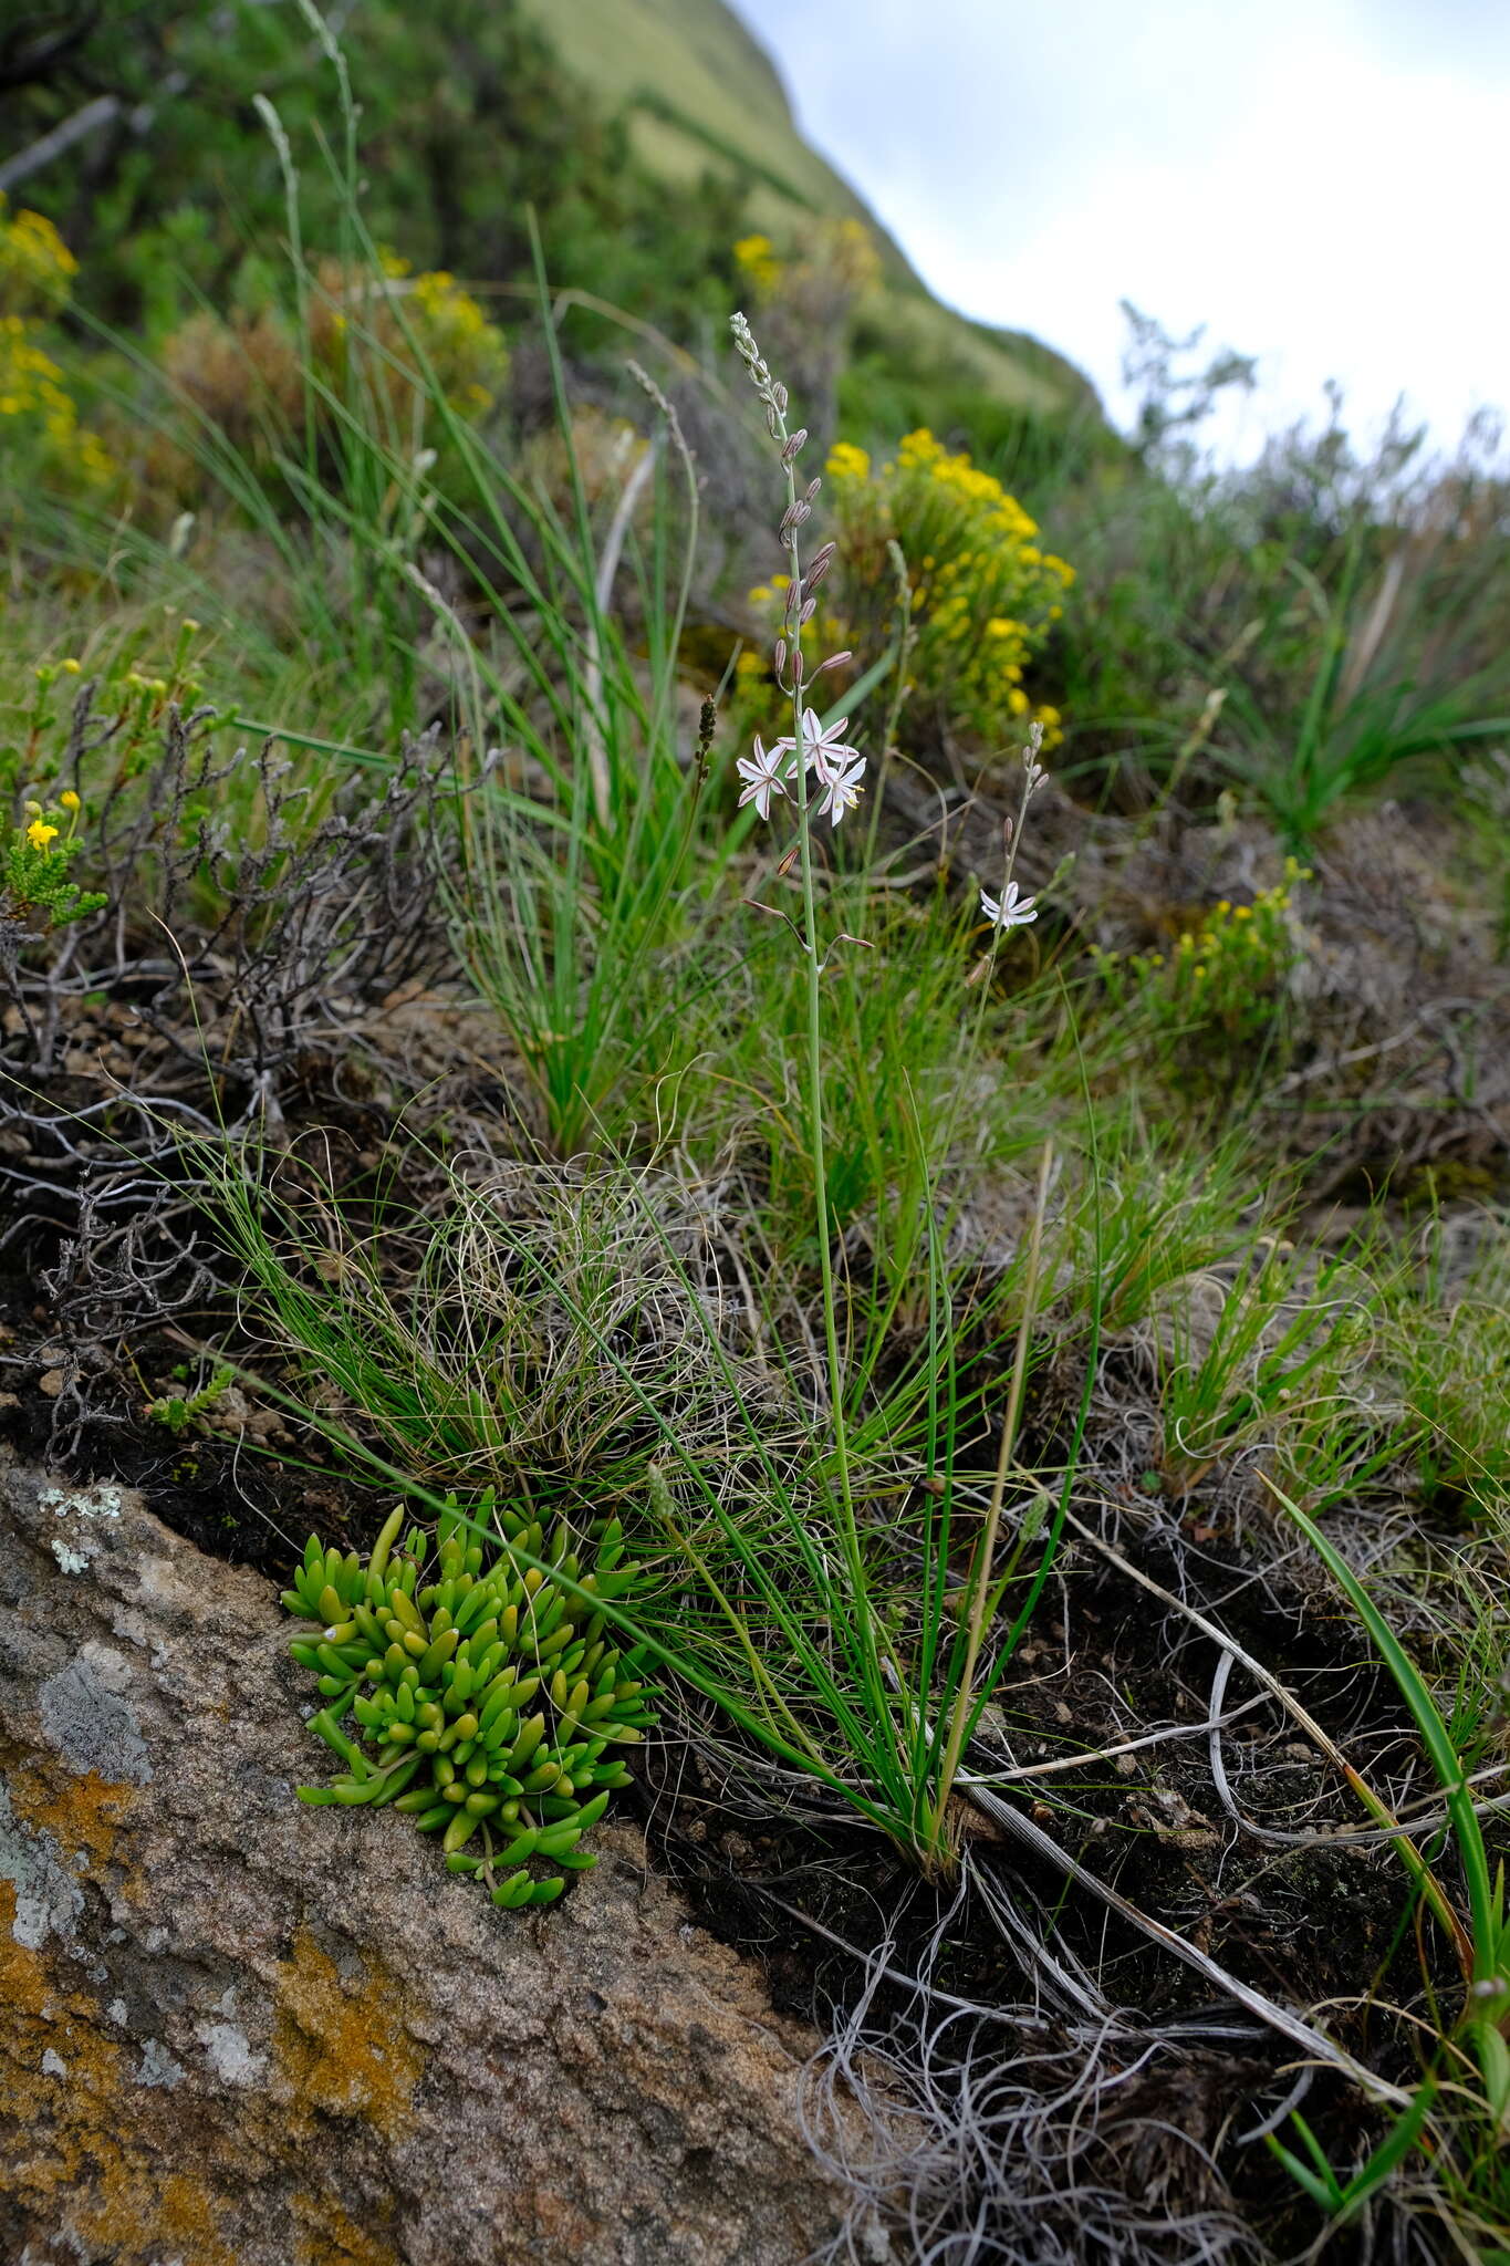
[[[815,648],[849,648],[867,664],[892,644],[899,546],[910,591],[912,707],[1001,746],[1037,721],[1053,748],[1062,739],[1059,712],[1035,707],[1023,678],[1075,576],[1041,548],[1021,503],[928,431],[908,433],[883,465],[853,442],[835,442],[826,492],[840,551],[822,589]],[[752,603],[770,607],[772,621],[783,605],[763,591],[752,591]]]

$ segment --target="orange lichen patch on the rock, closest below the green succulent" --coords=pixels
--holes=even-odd
[[[403,2028],[401,1985],[369,1969],[358,1987],[342,1983],[335,1960],[308,1928],[274,1978],[274,2060],[292,2087],[290,2119],[362,2116],[385,2139],[407,2128],[407,2107],[423,2053]]]

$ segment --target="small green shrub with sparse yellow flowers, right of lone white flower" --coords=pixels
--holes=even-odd
[[[1155,1029],[1195,1047],[1236,1049],[1275,1033],[1286,977],[1302,949],[1293,891],[1311,875],[1286,859],[1284,879],[1252,904],[1222,897],[1204,920],[1184,927],[1168,952],[1100,952],[1096,970],[1114,1006],[1139,1006]]]

